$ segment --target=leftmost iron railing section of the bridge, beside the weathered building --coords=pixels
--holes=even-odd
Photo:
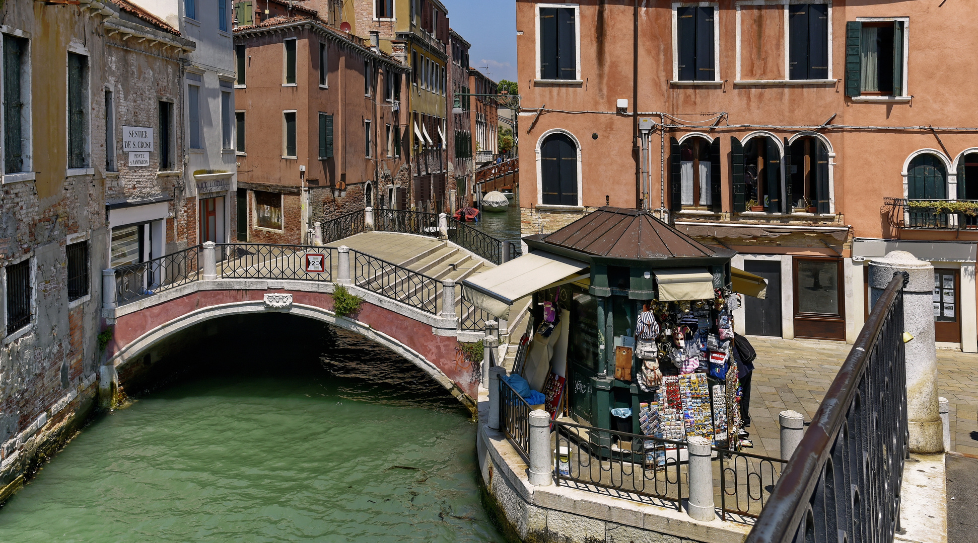
[[[120,306],[198,279],[200,245],[147,262],[115,269],[115,296]]]

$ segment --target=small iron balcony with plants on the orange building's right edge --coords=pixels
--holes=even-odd
[[[890,222],[902,229],[978,230],[978,200],[885,199]]]

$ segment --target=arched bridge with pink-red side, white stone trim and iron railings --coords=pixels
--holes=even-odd
[[[111,397],[127,364],[172,334],[231,314],[288,312],[362,334],[474,407],[481,372],[459,342],[483,337],[491,316],[467,304],[456,282],[491,266],[447,240],[374,231],[327,246],[208,242],[106,270],[103,315],[113,333],[101,392]],[[358,312],[335,313],[338,285],[363,299]]]

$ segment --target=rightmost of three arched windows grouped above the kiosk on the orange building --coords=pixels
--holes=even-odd
[[[829,213],[827,147],[818,138],[805,137],[788,148],[784,163],[794,211]]]

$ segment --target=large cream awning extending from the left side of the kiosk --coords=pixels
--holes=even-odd
[[[557,284],[580,280],[588,266],[551,253],[529,253],[465,279],[462,292],[475,307],[508,318],[516,300]],[[711,289],[711,297],[712,293]]]

